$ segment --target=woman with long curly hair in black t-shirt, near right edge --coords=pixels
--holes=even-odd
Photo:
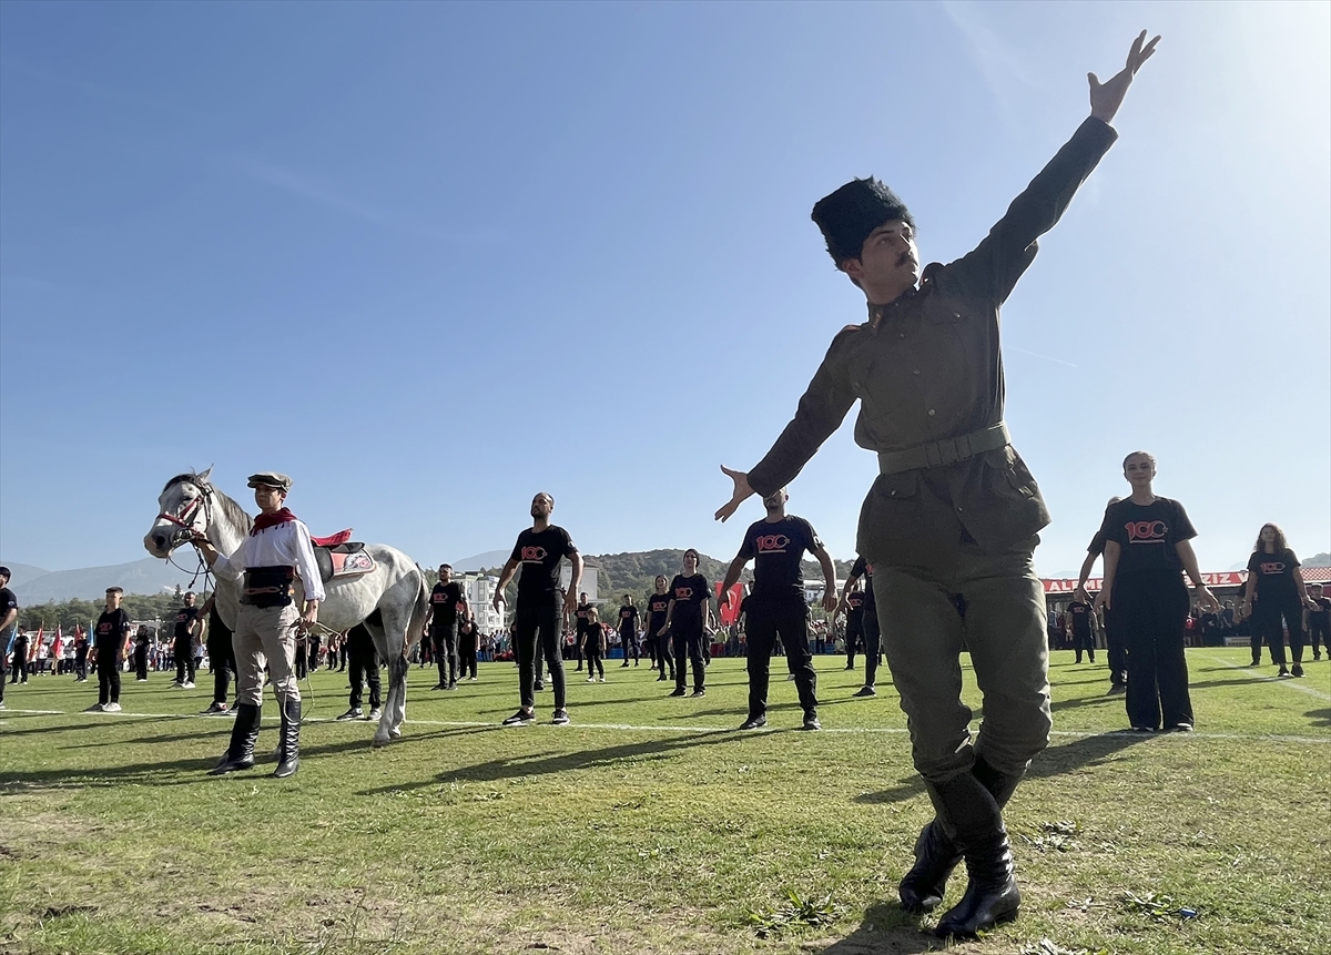
[[[1290,656],[1294,657],[1292,676],[1302,677],[1303,611],[1312,607],[1299,573],[1299,559],[1286,544],[1284,531],[1275,524],[1263,524],[1248,557],[1248,579],[1239,608],[1243,613],[1252,613],[1254,665],[1264,637],[1271,649],[1271,662],[1280,668],[1276,676],[1291,676],[1284,665],[1284,633],[1280,626],[1284,617],[1284,626],[1290,629]]]

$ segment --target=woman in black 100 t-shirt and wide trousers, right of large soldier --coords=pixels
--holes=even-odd
[[[1151,491],[1155,459],[1134,451],[1123,459],[1123,476],[1133,493],[1105,511],[1105,583],[1095,607],[1110,608],[1127,640],[1127,720],[1133,729],[1191,732],[1195,720],[1183,656],[1189,596],[1182,573],[1186,571],[1197,585],[1203,609],[1219,609],[1219,604],[1202,583],[1189,543],[1197,531],[1187,512],[1177,500]]]

